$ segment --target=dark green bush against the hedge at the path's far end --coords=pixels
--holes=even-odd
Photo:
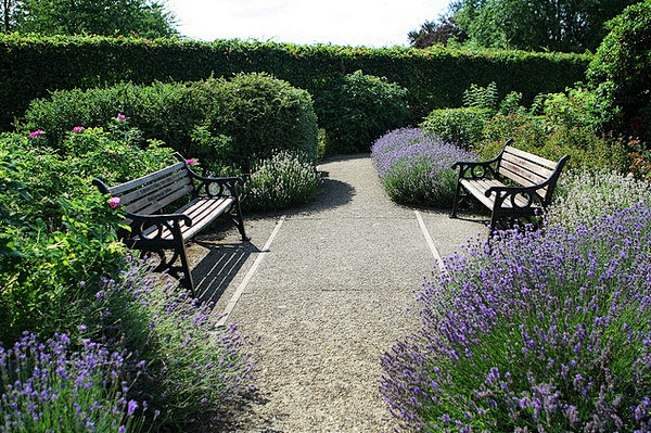
[[[316,103],[330,147],[327,152],[367,152],[382,133],[405,124],[406,97],[407,89],[361,71],[322,90]]]

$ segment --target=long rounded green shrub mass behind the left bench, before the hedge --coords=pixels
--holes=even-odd
[[[232,165],[247,168],[255,157],[270,156],[271,149],[317,154],[309,94],[265,74],[238,75],[230,81],[56,91],[31,102],[18,130],[43,130],[41,138],[61,148],[76,126],[108,127],[132,144],[143,144],[129,125],[216,171]]]

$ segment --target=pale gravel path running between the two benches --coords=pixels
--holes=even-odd
[[[229,317],[259,336],[258,398],[233,431],[391,430],[379,358],[418,327],[414,290],[434,258],[414,211],[386,198],[368,156],[334,158],[320,169],[329,178],[316,201],[286,215]],[[485,231],[476,220],[421,215],[442,255]],[[251,245],[232,232],[217,249],[210,237],[192,245],[199,293],[216,301],[216,311],[278,220],[248,218]]]

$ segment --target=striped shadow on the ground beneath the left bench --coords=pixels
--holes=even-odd
[[[204,303],[216,303],[246,259],[260,250],[251,242],[215,243],[194,241],[208,250],[208,254],[192,269],[196,297]]]

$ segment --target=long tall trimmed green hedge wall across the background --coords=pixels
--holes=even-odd
[[[0,127],[8,128],[48,90],[267,72],[318,95],[358,69],[407,88],[410,122],[419,122],[433,109],[460,106],[471,84],[495,81],[503,92],[522,92],[525,103],[537,93],[564,90],[583,79],[589,61],[583,54],[522,51],[5,35],[0,36]]]

